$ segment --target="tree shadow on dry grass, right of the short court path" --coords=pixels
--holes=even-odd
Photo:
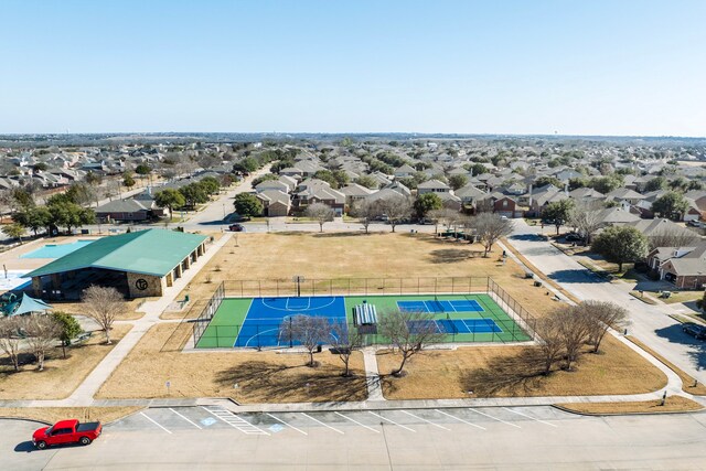
[[[473,392],[477,397],[491,397],[530,394],[542,386],[546,377],[542,353],[528,349],[513,356],[492,358],[486,367],[466,372],[460,382],[463,390]]]

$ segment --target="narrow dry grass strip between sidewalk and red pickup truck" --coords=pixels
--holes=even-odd
[[[0,407],[0,417],[13,417],[55,424],[64,419],[100,420],[107,424],[137,413],[142,407]]]

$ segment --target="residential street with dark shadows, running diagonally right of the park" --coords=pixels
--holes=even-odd
[[[598,277],[538,237],[539,227],[528,226],[522,220],[516,220],[514,225],[507,242],[547,277],[578,299],[609,300],[624,307],[632,320],[630,334],[699,382],[706,382],[706,345],[682,332],[681,324],[668,317],[674,312],[671,307],[646,304],[629,295],[624,285],[618,285],[621,281],[611,283]]]

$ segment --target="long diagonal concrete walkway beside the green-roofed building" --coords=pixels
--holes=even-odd
[[[176,296],[191,282],[191,280],[199,275],[199,271],[213,258],[213,256],[223,247],[229,239],[232,234],[224,234],[216,243],[212,244],[206,253],[192,264],[191,269],[184,271],[183,277],[175,280],[174,285],[167,288],[164,295],[156,301],[145,302],[138,311],[146,314],[136,321],[130,321],[133,328],[128,332],[118,344],[103,358],[100,363],[90,372],[90,374],[84,379],[84,382],[74,390],[74,393],[66,399],[62,400],[38,400],[32,407],[36,406],[90,406],[94,402],[93,396],[98,392],[103,383],[108,379],[110,374],[118,367],[120,362],[130,353],[132,347],[142,339],[147,331],[160,322],[160,314],[171,304]]]

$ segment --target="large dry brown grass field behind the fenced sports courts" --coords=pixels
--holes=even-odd
[[[524,279],[517,264],[498,263],[498,247],[488,258],[472,257],[479,250],[480,245],[429,234],[240,234],[238,247],[234,239],[228,242],[179,298],[186,292],[194,301],[211,298],[222,280],[290,280],[293,275],[310,279],[490,276],[523,306],[531,307],[530,311],[534,304],[545,303],[546,290]],[[211,282],[205,282],[207,279]],[[189,317],[197,314],[194,312]]]

